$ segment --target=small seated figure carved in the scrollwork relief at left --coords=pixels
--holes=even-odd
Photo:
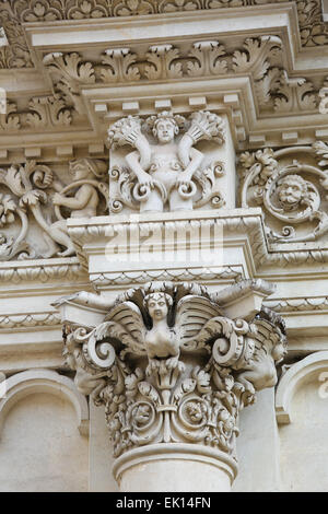
[[[55,192],[52,202],[57,207],[57,215],[59,221],[56,221],[50,226],[50,231],[60,233],[60,244],[67,247],[60,255],[67,257],[74,254],[73,244],[67,233],[66,220],[62,219],[59,207],[67,207],[71,209],[71,218],[92,218],[96,215],[97,206],[99,203],[99,196],[97,187],[101,183],[95,180],[95,177],[101,178],[105,175],[107,166],[103,161],[92,159],[78,159],[71,161],[69,172],[73,176],[73,182],[61,189],[61,192]],[[66,196],[66,190],[78,187],[74,196]]]

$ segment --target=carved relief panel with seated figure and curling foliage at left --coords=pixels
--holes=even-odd
[[[0,260],[73,255],[66,219],[106,212],[106,172],[104,161],[91,159],[0,170]]]

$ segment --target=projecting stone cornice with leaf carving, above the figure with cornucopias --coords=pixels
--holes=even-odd
[[[91,2],[83,2],[84,17],[89,12],[95,19],[77,14],[81,2],[67,2],[74,4],[69,16],[75,14],[62,14],[65,21],[55,13],[56,2],[48,11],[44,1],[30,3],[30,11],[28,5],[22,8],[24,2],[10,4],[15,16],[24,19],[24,25],[16,20],[25,42],[20,52],[23,47],[31,50],[37,71],[21,67],[14,77],[12,70],[1,73],[8,100],[7,114],[0,115],[3,162],[9,152],[20,161],[45,153],[58,160],[78,148],[85,155],[103,156],[108,125],[163,108],[226,114],[239,150],[308,144],[328,133],[327,117],[319,109],[327,48],[302,49],[295,2],[247,9],[235,2],[230,3],[234,9],[189,2],[201,11],[197,19],[186,2],[179,3],[179,12],[164,9],[176,2],[155,2],[163,11],[150,11],[152,16],[149,11],[124,16],[118,14],[126,13],[120,4],[129,2],[110,2],[117,7],[114,17],[95,16],[86,9]],[[8,9],[2,16],[9,16]],[[9,45],[0,50],[9,55],[8,33],[7,38]],[[21,141],[16,148],[23,133],[25,154]]]

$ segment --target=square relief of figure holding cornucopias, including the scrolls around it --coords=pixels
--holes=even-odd
[[[147,137],[150,132],[152,141]],[[180,115],[162,112],[144,122],[139,116],[116,121],[108,130],[114,162],[109,171],[110,212],[120,212],[124,207],[140,212],[191,210],[210,201],[221,207],[224,202],[216,178],[223,174],[223,164],[204,165],[203,152],[194,148],[201,140],[219,147],[224,143],[223,120],[218,115],[198,112],[187,122]],[[134,150],[127,153],[119,149],[127,145]]]

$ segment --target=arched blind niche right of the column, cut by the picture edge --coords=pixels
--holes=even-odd
[[[328,483],[328,351],[292,365],[277,390],[281,490],[324,492]]]

